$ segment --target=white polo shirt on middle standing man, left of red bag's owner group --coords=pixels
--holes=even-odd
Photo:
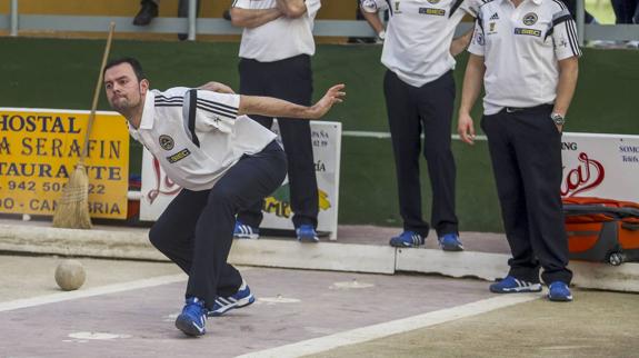
[[[481,0],[361,0],[367,12],[389,9],[381,63],[408,84],[421,87],[455,68],[450,43],[466,13]]]

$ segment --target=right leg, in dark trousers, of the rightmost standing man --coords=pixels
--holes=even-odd
[[[530,243],[546,284],[570,284],[568,237],[561,207],[561,133],[550,119],[551,107],[512,118],[520,163]]]

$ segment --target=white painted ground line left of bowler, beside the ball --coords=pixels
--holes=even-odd
[[[148,288],[154,286],[161,286],[167,284],[180,282],[186,281],[187,275],[171,275],[171,276],[161,276],[161,277],[153,277],[143,280],[137,280],[131,282],[124,284],[114,284],[108,285],[102,287],[89,288],[89,289],[80,289],[77,291],[68,291],[68,292],[59,292],[32,298],[23,298],[17,299],[7,302],[0,302],[0,312],[2,311],[10,311],[20,308],[27,307],[34,307],[34,306],[42,306],[48,304],[68,301],[78,298],[86,298],[86,297],[93,297],[93,296],[101,296],[101,295],[109,295],[122,291],[130,291],[140,288]]]

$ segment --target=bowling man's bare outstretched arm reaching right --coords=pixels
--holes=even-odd
[[[345,84],[336,84],[311,107],[294,105],[272,97],[240,96],[238,115],[260,115],[279,118],[319,119],[322,118],[335,103],[341,103],[346,92]]]

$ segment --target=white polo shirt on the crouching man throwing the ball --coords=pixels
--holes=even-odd
[[[276,139],[249,117],[238,117],[239,102],[238,95],[186,87],[148,91],[140,128],[129,126],[129,132],[176,183],[211,189],[243,155],[257,153]]]

